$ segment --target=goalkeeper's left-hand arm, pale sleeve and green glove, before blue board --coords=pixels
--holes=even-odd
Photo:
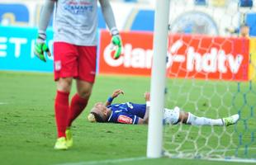
[[[50,50],[48,46],[45,44],[46,40],[46,28],[50,21],[50,16],[52,15],[55,7],[55,0],[45,0],[44,6],[42,7],[40,13],[39,27],[38,27],[38,35],[35,44],[35,54],[36,56],[46,62],[45,53],[50,56]]]

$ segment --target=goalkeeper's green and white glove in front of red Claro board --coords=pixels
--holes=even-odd
[[[111,29],[111,35],[112,35],[111,44],[116,47],[114,59],[118,59],[121,55],[121,37],[120,37],[119,32],[117,31],[116,27]]]

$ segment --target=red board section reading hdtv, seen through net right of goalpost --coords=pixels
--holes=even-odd
[[[248,80],[249,40],[170,35],[168,77]]]

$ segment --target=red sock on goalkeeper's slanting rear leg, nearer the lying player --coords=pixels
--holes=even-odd
[[[69,117],[68,117],[68,127],[72,125],[73,120],[75,120],[78,115],[81,114],[85,106],[88,104],[88,99],[80,97],[78,93],[76,93],[71,101],[69,108]]]

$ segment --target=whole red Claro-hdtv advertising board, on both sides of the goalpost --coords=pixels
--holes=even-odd
[[[150,75],[153,34],[121,33],[123,50],[113,59],[111,36],[101,31],[99,73]],[[249,78],[249,40],[206,35],[170,35],[168,77],[246,81]]]

